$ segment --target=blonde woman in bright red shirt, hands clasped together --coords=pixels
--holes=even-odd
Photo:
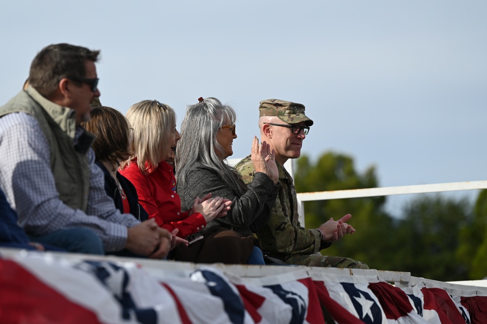
[[[157,100],[132,105],[126,117],[134,128],[134,153],[121,164],[122,175],[136,187],[139,203],[157,225],[186,238],[226,215],[231,202],[220,197],[195,197],[187,211],[181,210],[173,168],[164,160],[179,138],[174,110]]]

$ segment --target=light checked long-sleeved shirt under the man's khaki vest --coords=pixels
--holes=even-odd
[[[82,130],[78,129],[75,143]],[[0,118],[0,186],[19,225],[29,235],[47,234],[59,229],[86,227],[101,238],[105,251],[124,247],[127,228],[138,221],[121,214],[104,189],[103,172],[95,164],[95,153],[88,152],[90,190],[86,213],[74,210],[59,199],[50,167],[50,147],[37,120],[24,113]]]

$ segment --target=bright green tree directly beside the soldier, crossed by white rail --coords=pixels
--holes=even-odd
[[[379,186],[374,167],[358,173],[350,156],[334,152],[321,155],[314,165],[307,156],[302,156],[297,160],[294,178],[297,192]],[[385,201],[385,197],[368,197],[306,202],[306,227],[317,228],[330,217],[338,219],[350,213],[349,223],[357,229],[356,233],[335,242],[322,254],[347,256],[371,268],[389,270],[388,260],[393,256],[390,248],[396,241],[391,232],[394,221],[383,210]]]

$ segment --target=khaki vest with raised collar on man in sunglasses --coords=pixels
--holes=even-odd
[[[33,87],[0,107],[0,117],[11,113],[26,113],[37,119],[51,148],[51,171],[59,199],[75,210],[86,211],[90,188],[87,152],[95,135],[84,131],[74,146],[75,111],[49,101]]]

